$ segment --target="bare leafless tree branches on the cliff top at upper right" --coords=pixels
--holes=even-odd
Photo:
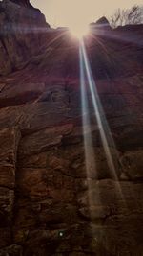
[[[127,24],[143,23],[143,6],[133,6],[130,9],[118,8],[111,16],[110,23],[113,28]]]

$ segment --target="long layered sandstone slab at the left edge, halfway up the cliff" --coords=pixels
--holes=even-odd
[[[17,127],[22,133],[31,132],[67,124],[67,112],[65,105],[51,103],[34,103],[21,105],[20,107],[6,107],[0,111],[1,128]],[[70,120],[68,123],[71,123]]]

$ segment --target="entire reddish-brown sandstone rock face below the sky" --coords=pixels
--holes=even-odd
[[[1,24],[10,21],[0,55],[0,255],[141,256],[143,26],[92,27],[84,40],[104,151],[87,81],[83,127],[78,41],[67,30],[45,34],[43,15],[18,2],[0,6]],[[40,36],[12,31],[28,13]]]

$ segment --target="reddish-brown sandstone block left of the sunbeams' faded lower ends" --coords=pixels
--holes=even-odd
[[[62,198],[71,201],[73,198],[74,182],[70,176],[64,176],[48,169],[31,168],[21,169],[17,175],[18,190],[27,197],[40,198],[42,196],[53,198],[54,201]]]

